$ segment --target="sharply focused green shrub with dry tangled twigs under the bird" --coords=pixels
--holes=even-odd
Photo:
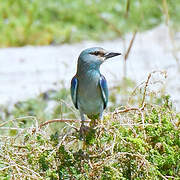
[[[152,72],[133,91],[132,97],[140,93],[139,106],[108,112],[84,142],[79,140],[77,120],[64,119],[39,125],[33,117],[32,127],[20,129],[16,136],[0,136],[0,177],[178,179],[180,114],[174,111],[169,96],[158,97],[156,91],[153,100],[148,99],[152,76],[157,73],[166,76]],[[50,123],[62,121],[67,124],[59,132],[47,133]]]

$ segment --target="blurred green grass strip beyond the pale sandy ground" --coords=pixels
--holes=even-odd
[[[129,5],[128,5],[129,2]],[[0,47],[106,40],[180,22],[179,0],[0,0]]]

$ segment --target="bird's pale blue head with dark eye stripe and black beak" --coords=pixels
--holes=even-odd
[[[81,52],[78,64],[99,68],[107,59],[118,55],[121,53],[109,52],[100,47],[88,48]]]

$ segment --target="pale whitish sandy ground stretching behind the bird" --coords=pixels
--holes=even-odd
[[[132,35],[125,37],[126,46]],[[176,44],[180,45],[178,37]],[[79,53],[88,47],[100,46],[124,53],[121,39],[105,42],[82,42],[61,46],[25,46],[0,49],[0,104],[34,97],[48,89],[66,87],[76,72]],[[178,54],[180,58],[180,52]],[[180,109],[180,73],[172,56],[168,30],[161,25],[136,36],[127,61],[127,76],[140,83],[153,70],[166,70],[167,93]],[[111,59],[101,67],[110,86],[122,80],[123,56]]]

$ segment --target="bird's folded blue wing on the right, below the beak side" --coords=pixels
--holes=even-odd
[[[100,77],[99,85],[101,88],[102,98],[104,101],[104,109],[105,109],[108,103],[108,86],[107,86],[107,81],[103,75],[101,75]]]

